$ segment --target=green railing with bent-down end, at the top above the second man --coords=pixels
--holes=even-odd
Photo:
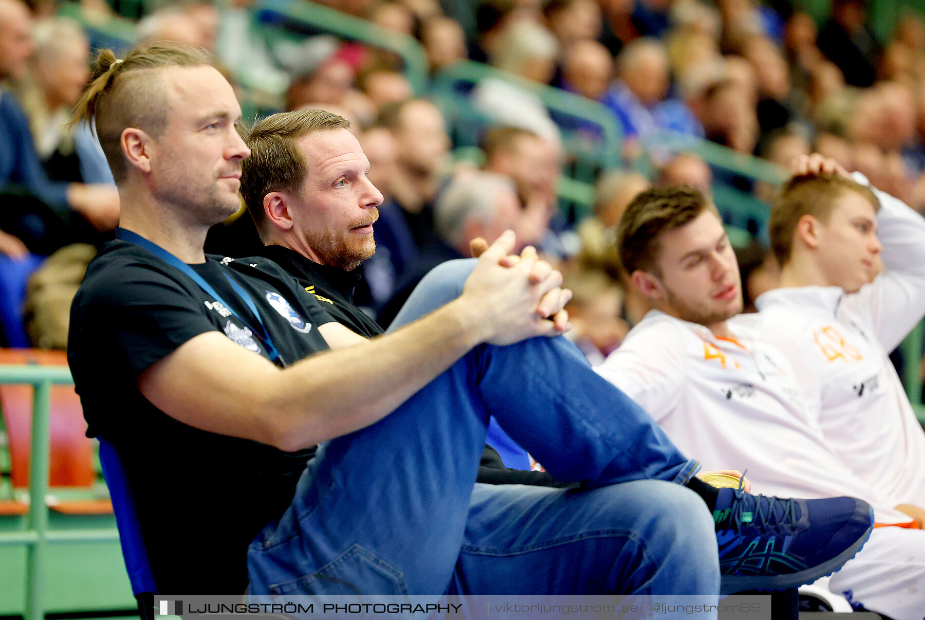
[[[427,90],[427,56],[424,47],[413,37],[387,31],[366,19],[354,18],[307,0],[260,0],[255,10],[265,23],[290,21],[392,52],[401,57],[405,77],[414,93],[421,94]]]

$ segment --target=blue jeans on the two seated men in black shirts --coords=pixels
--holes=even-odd
[[[396,323],[458,296],[473,265],[432,271]],[[581,490],[476,485],[489,415]],[[250,546],[251,592],[715,594],[712,518],[682,486],[696,470],[564,338],[481,345],[319,448]]]

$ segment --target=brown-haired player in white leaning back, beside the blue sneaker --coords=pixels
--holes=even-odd
[[[759,339],[754,316],[739,315],[735,255],[703,194],[685,187],[639,194],[623,214],[617,245],[631,281],[654,309],[596,367],[601,376],[708,468],[738,466],[756,490],[774,495],[857,495],[873,505],[879,524],[907,523],[881,490],[833,453],[793,367]],[[766,552],[785,557],[790,543],[771,541]],[[834,574],[831,588],[853,593],[872,611],[918,620],[923,578],[925,531],[878,527]]]

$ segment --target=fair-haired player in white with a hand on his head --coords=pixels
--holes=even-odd
[[[925,315],[925,220],[821,166],[798,169],[771,210],[782,288],[756,302],[761,337],[795,367],[833,451],[923,527],[925,433],[887,355]]]

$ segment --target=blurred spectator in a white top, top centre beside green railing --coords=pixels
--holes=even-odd
[[[527,81],[549,84],[556,68],[559,44],[536,22],[522,19],[504,31],[491,64]],[[532,130],[559,141],[559,127],[536,93],[519,83],[494,76],[479,81],[471,95],[475,108],[496,123]]]

